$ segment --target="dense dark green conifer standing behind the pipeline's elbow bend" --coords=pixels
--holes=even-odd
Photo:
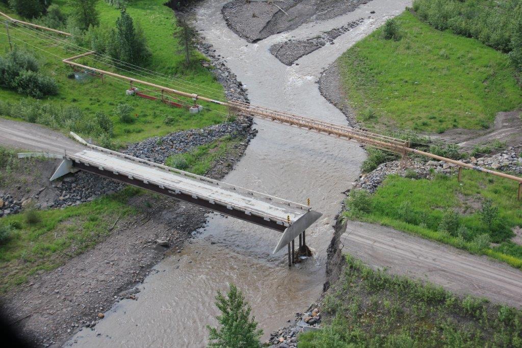
[[[108,48],[109,55],[117,61],[141,65],[150,58],[145,35],[140,27],[135,27],[134,20],[125,8],[120,18],[116,19],[116,29],[112,31]]]

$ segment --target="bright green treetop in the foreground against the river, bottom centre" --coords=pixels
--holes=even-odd
[[[238,290],[234,284],[230,284],[226,295],[218,291],[216,306],[221,311],[221,315],[216,317],[221,327],[218,330],[207,325],[209,347],[254,348],[261,346],[259,339],[263,330],[257,328],[255,317],[250,317],[252,308],[246,303],[241,290]]]

